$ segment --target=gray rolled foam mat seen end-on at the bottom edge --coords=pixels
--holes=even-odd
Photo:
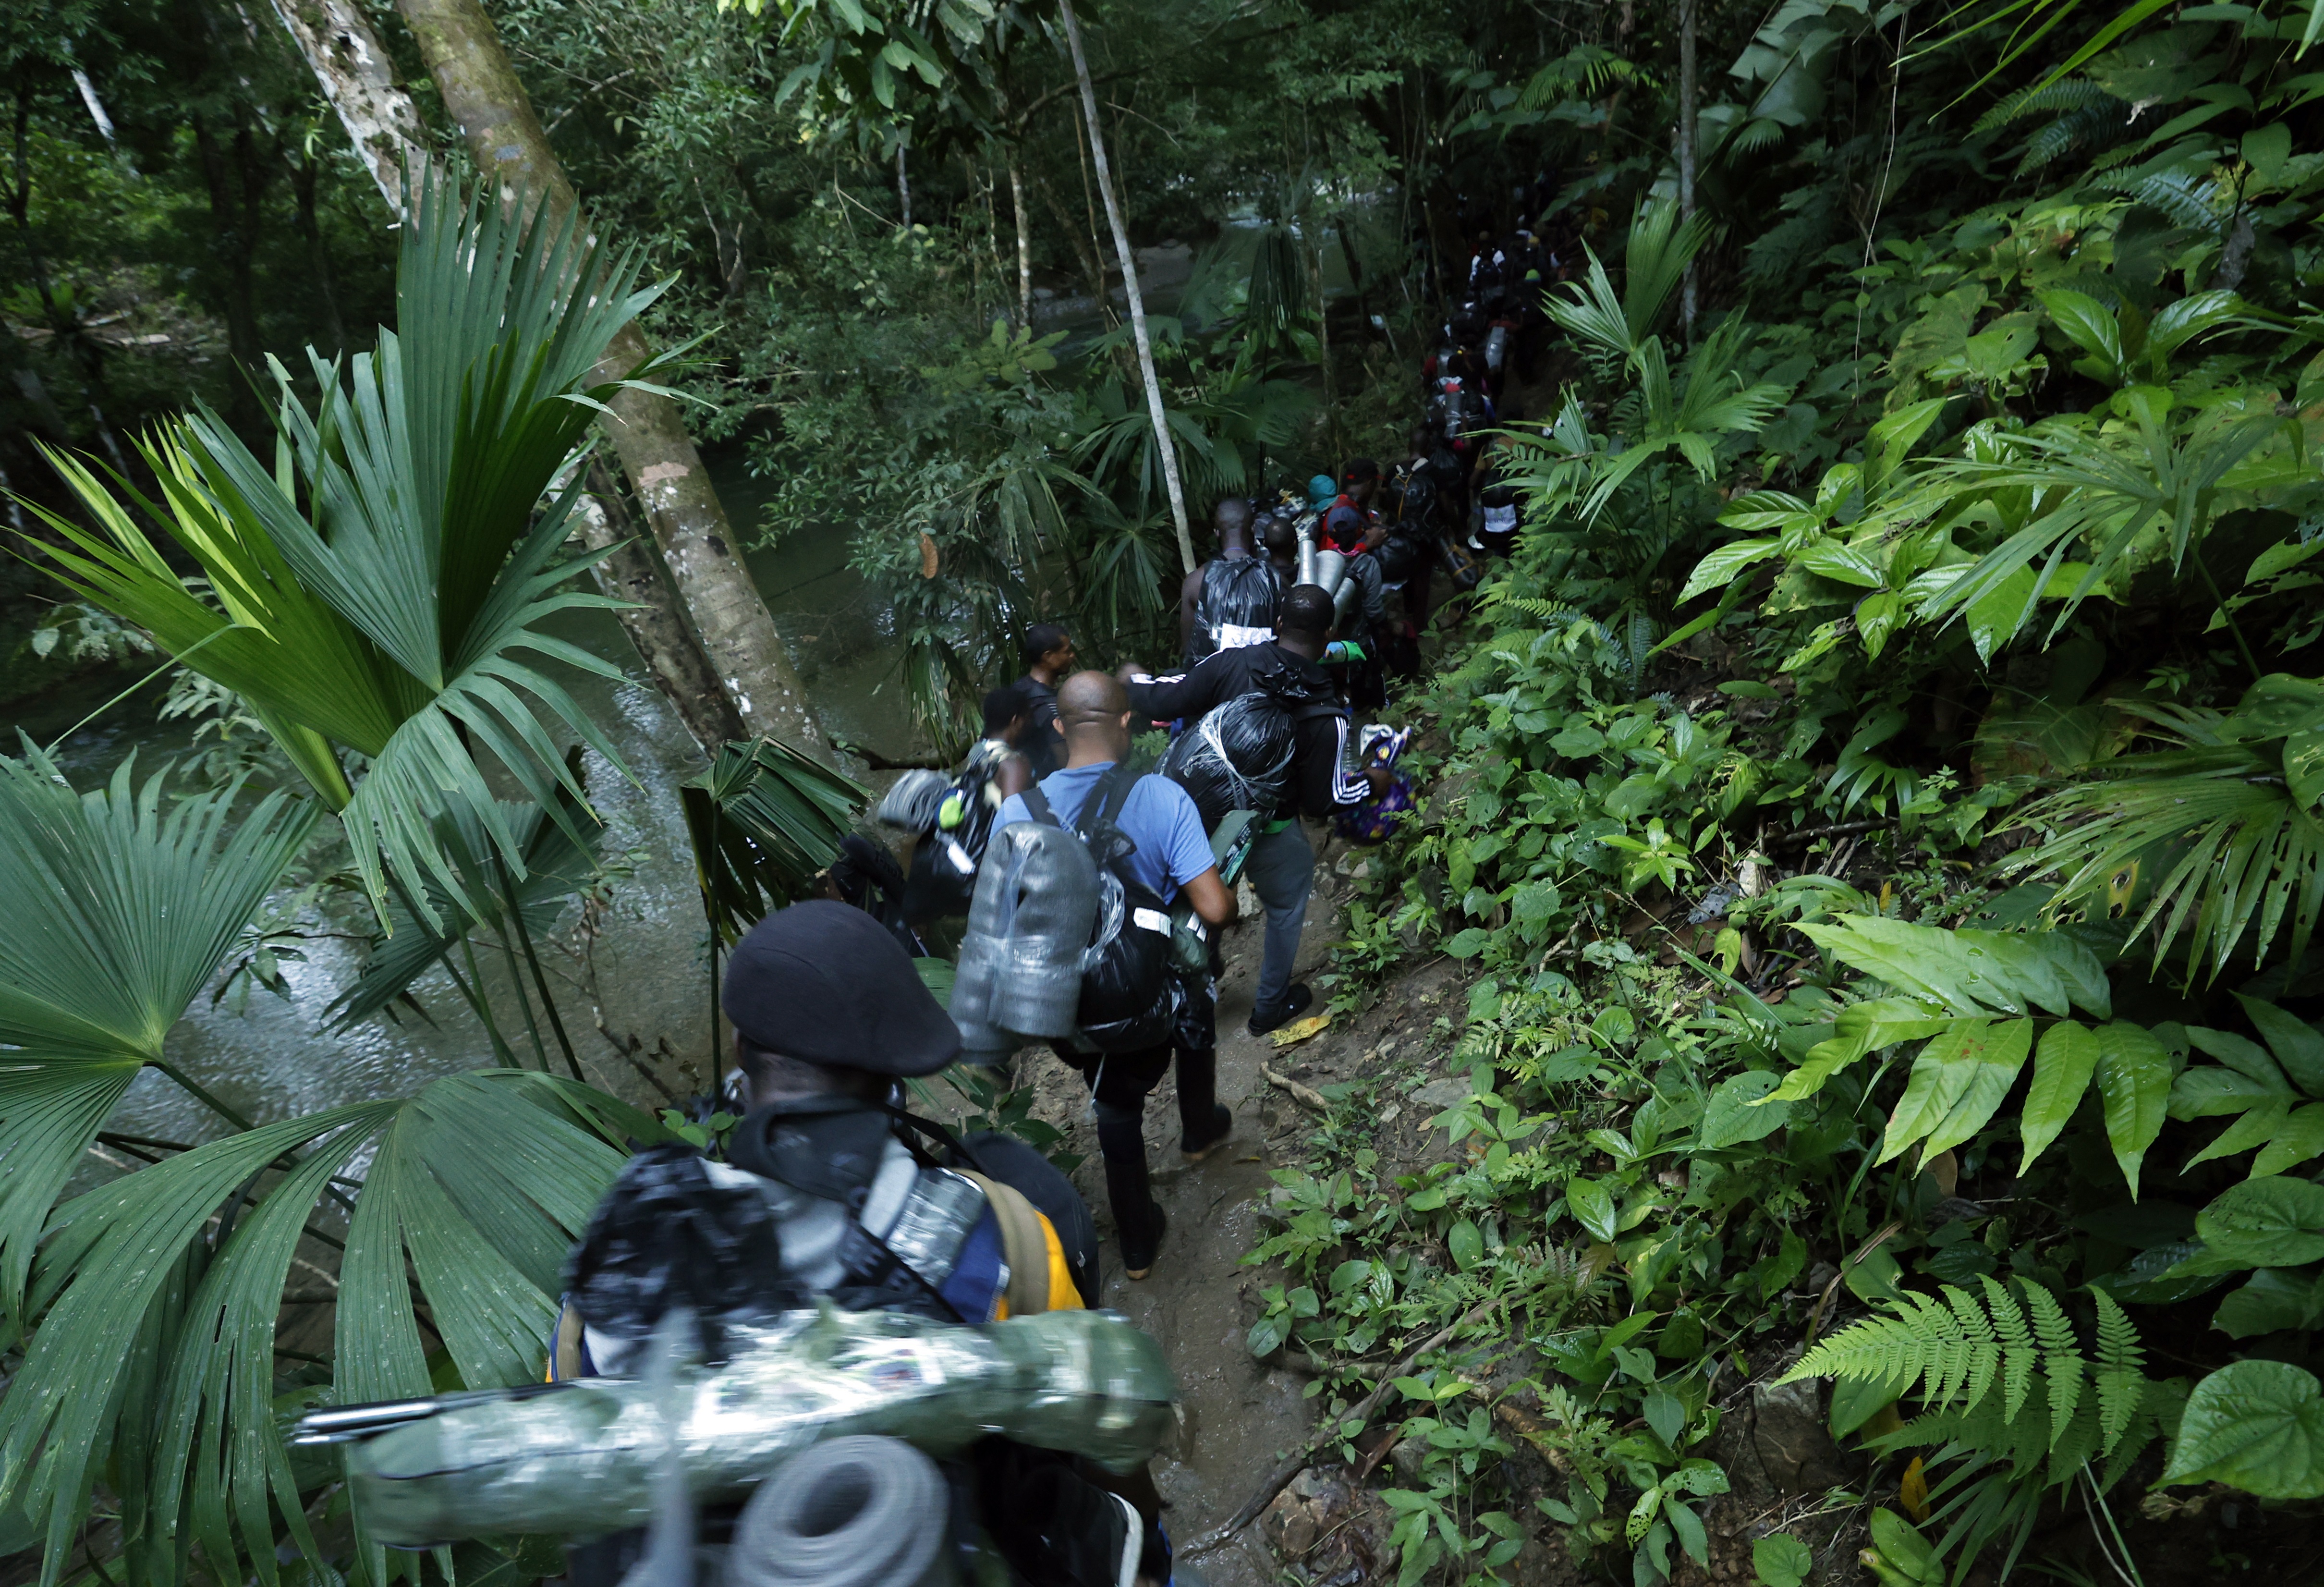
[[[951,1494],[902,1438],[832,1438],[776,1466],[744,1506],[725,1587],[944,1587]]]

